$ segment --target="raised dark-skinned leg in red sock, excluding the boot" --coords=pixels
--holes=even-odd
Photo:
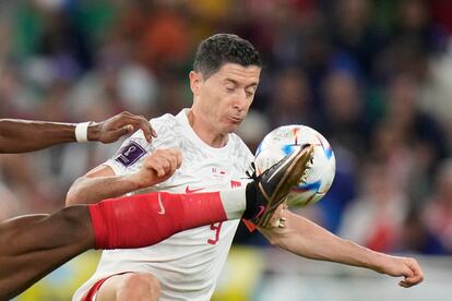
[[[245,190],[241,194],[245,198]],[[215,192],[133,195],[5,220],[0,224],[0,300],[17,296],[90,249],[147,246],[227,219]]]

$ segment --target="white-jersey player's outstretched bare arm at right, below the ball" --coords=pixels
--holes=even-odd
[[[402,287],[419,284],[423,270],[416,260],[374,252],[352,241],[341,239],[312,221],[289,210],[283,210],[284,228],[260,231],[274,245],[297,255],[373,269],[394,277],[404,277]]]

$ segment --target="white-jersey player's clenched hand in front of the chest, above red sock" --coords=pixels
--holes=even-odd
[[[170,178],[182,164],[182,154],[176,148],[157,149],[144,159],[139,172],[130,176],[138,189],[158,184]]]

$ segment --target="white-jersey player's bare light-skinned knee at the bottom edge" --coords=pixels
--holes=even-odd
[[[123,279],[116,300],[158,300],[160,284],[151,274],[128,274]]]

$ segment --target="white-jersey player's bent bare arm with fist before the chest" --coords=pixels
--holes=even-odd
[[[147,156],[139,172],[115,176],[114,170],[100,165],[75,180],[68,192],[67,205],[92,204],[105,198],[153,186],[167,180],[182,162],[178,149],[157,149]]]

